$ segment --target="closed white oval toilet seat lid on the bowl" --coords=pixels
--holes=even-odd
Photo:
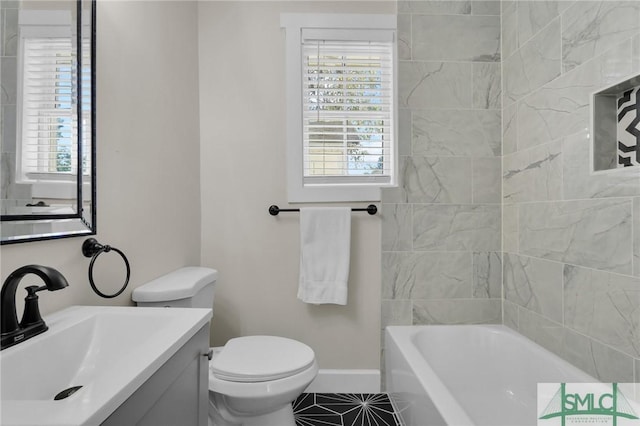
[[[285,337],[245,336],[231,339],[210,364],[219,380],[258,383],[294,376],[315,363],[313,350]]]

